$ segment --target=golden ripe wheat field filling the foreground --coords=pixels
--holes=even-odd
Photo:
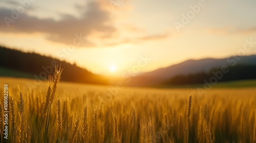
[[[8,83],[8,139],[2,142],[256,142],[255,88],[130,88],[64,83],[61,70],[29,88]],[[8,81],[8,82],[7,82]],[[110,91],[116,94],[110,96]]]

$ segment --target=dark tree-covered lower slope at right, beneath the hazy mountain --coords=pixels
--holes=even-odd
[[[223,73],[221,68],[211,69],[208,73],[200,72],[196,74],[177,75],[164,84],[185,85],[185,84],[201,84],[209,81],[212,77],[218,82],[256,79],[255,65],[236,65],[227,68],[227,73]]]

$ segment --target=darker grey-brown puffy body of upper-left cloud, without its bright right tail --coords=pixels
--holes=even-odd
[[[52,18],[39,19],[37,17],[29,16],[26,13],[19,14],[14,22],[10,22],[10,27],[7,27],[6,21],[0,21],[0,29],[2,32],[12,33],[45,33],[47,39],[53,42],[64,44],[71,44],[74,40],[75,34],[82,34],[82,37],[89,37],[93,32],[100,32],[111,37],[112,33],[116,31],[110,23],[111,18],[108,11],[101,9],[100,5],[95,2],[88,3],[88,9],[81,14],[81,18],[76,18],[72,15],[62,14],[62,19],[56,21]],[[14,10],[0,9],[0,18],[11,18]],[[84,39],[79,46],[96,46]]]

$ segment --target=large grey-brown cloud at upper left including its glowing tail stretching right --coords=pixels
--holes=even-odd
[[[160,40],[168,37],[168,34],[148,35],[146,30],[135,25],[123,25],[115,27],[115,19],[111,18],[109,4],[98,1],[88,2],[86,7],[74,5],[80,16],[60,14],[61,19],[40,19],[30,16],[25,12],[16,13],[16,9],[0,8],[0,18],[11,18],[8,27],[5,20],[0,20],[1,32],[5,33],[42,33],[49,41],[72,44],[77,37],[82,38],[80,47],[115,46],[123,43],[141,43],[151,40]],[[14,13],[18,14],[15,15]],[[16,16],[12,17],[12,16]],[[10,20],[10,19],[9,19]],[[8,20],[7,20],[8,21]],[[131,37],[126,37],[132,35]]]

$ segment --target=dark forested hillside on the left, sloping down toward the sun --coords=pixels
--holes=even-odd
[[[0,61],[0,67],[30,74],[34,79],[44,80],[46,76],[52,74],[55,64],[61,64],[61,67],[64,68],[61,81],[92,84],[108,83],[105,77],[95,75],[87,69],[78,67],[75,64],[35,53],[11,50],[3,46],[0,46]]]

